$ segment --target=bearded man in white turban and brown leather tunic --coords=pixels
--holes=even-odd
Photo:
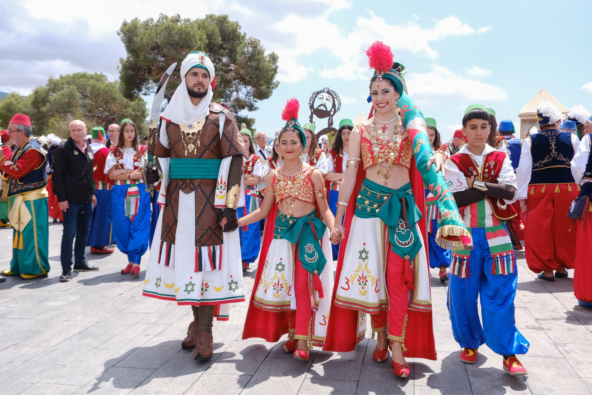
[[[208,55],[189,53],[181,84],[160,115],[154,155],[162,168],[163,208],[143,291],[191,306],[194,321],[182,347],[195,348],[194,359],[213,355],[214,315],[227,320],[230,303],[244,301],[236,208],[244,205],[246,150],[230,111],[211,102],[214,81]],[[146,178],[159,180],[155,169]]]

